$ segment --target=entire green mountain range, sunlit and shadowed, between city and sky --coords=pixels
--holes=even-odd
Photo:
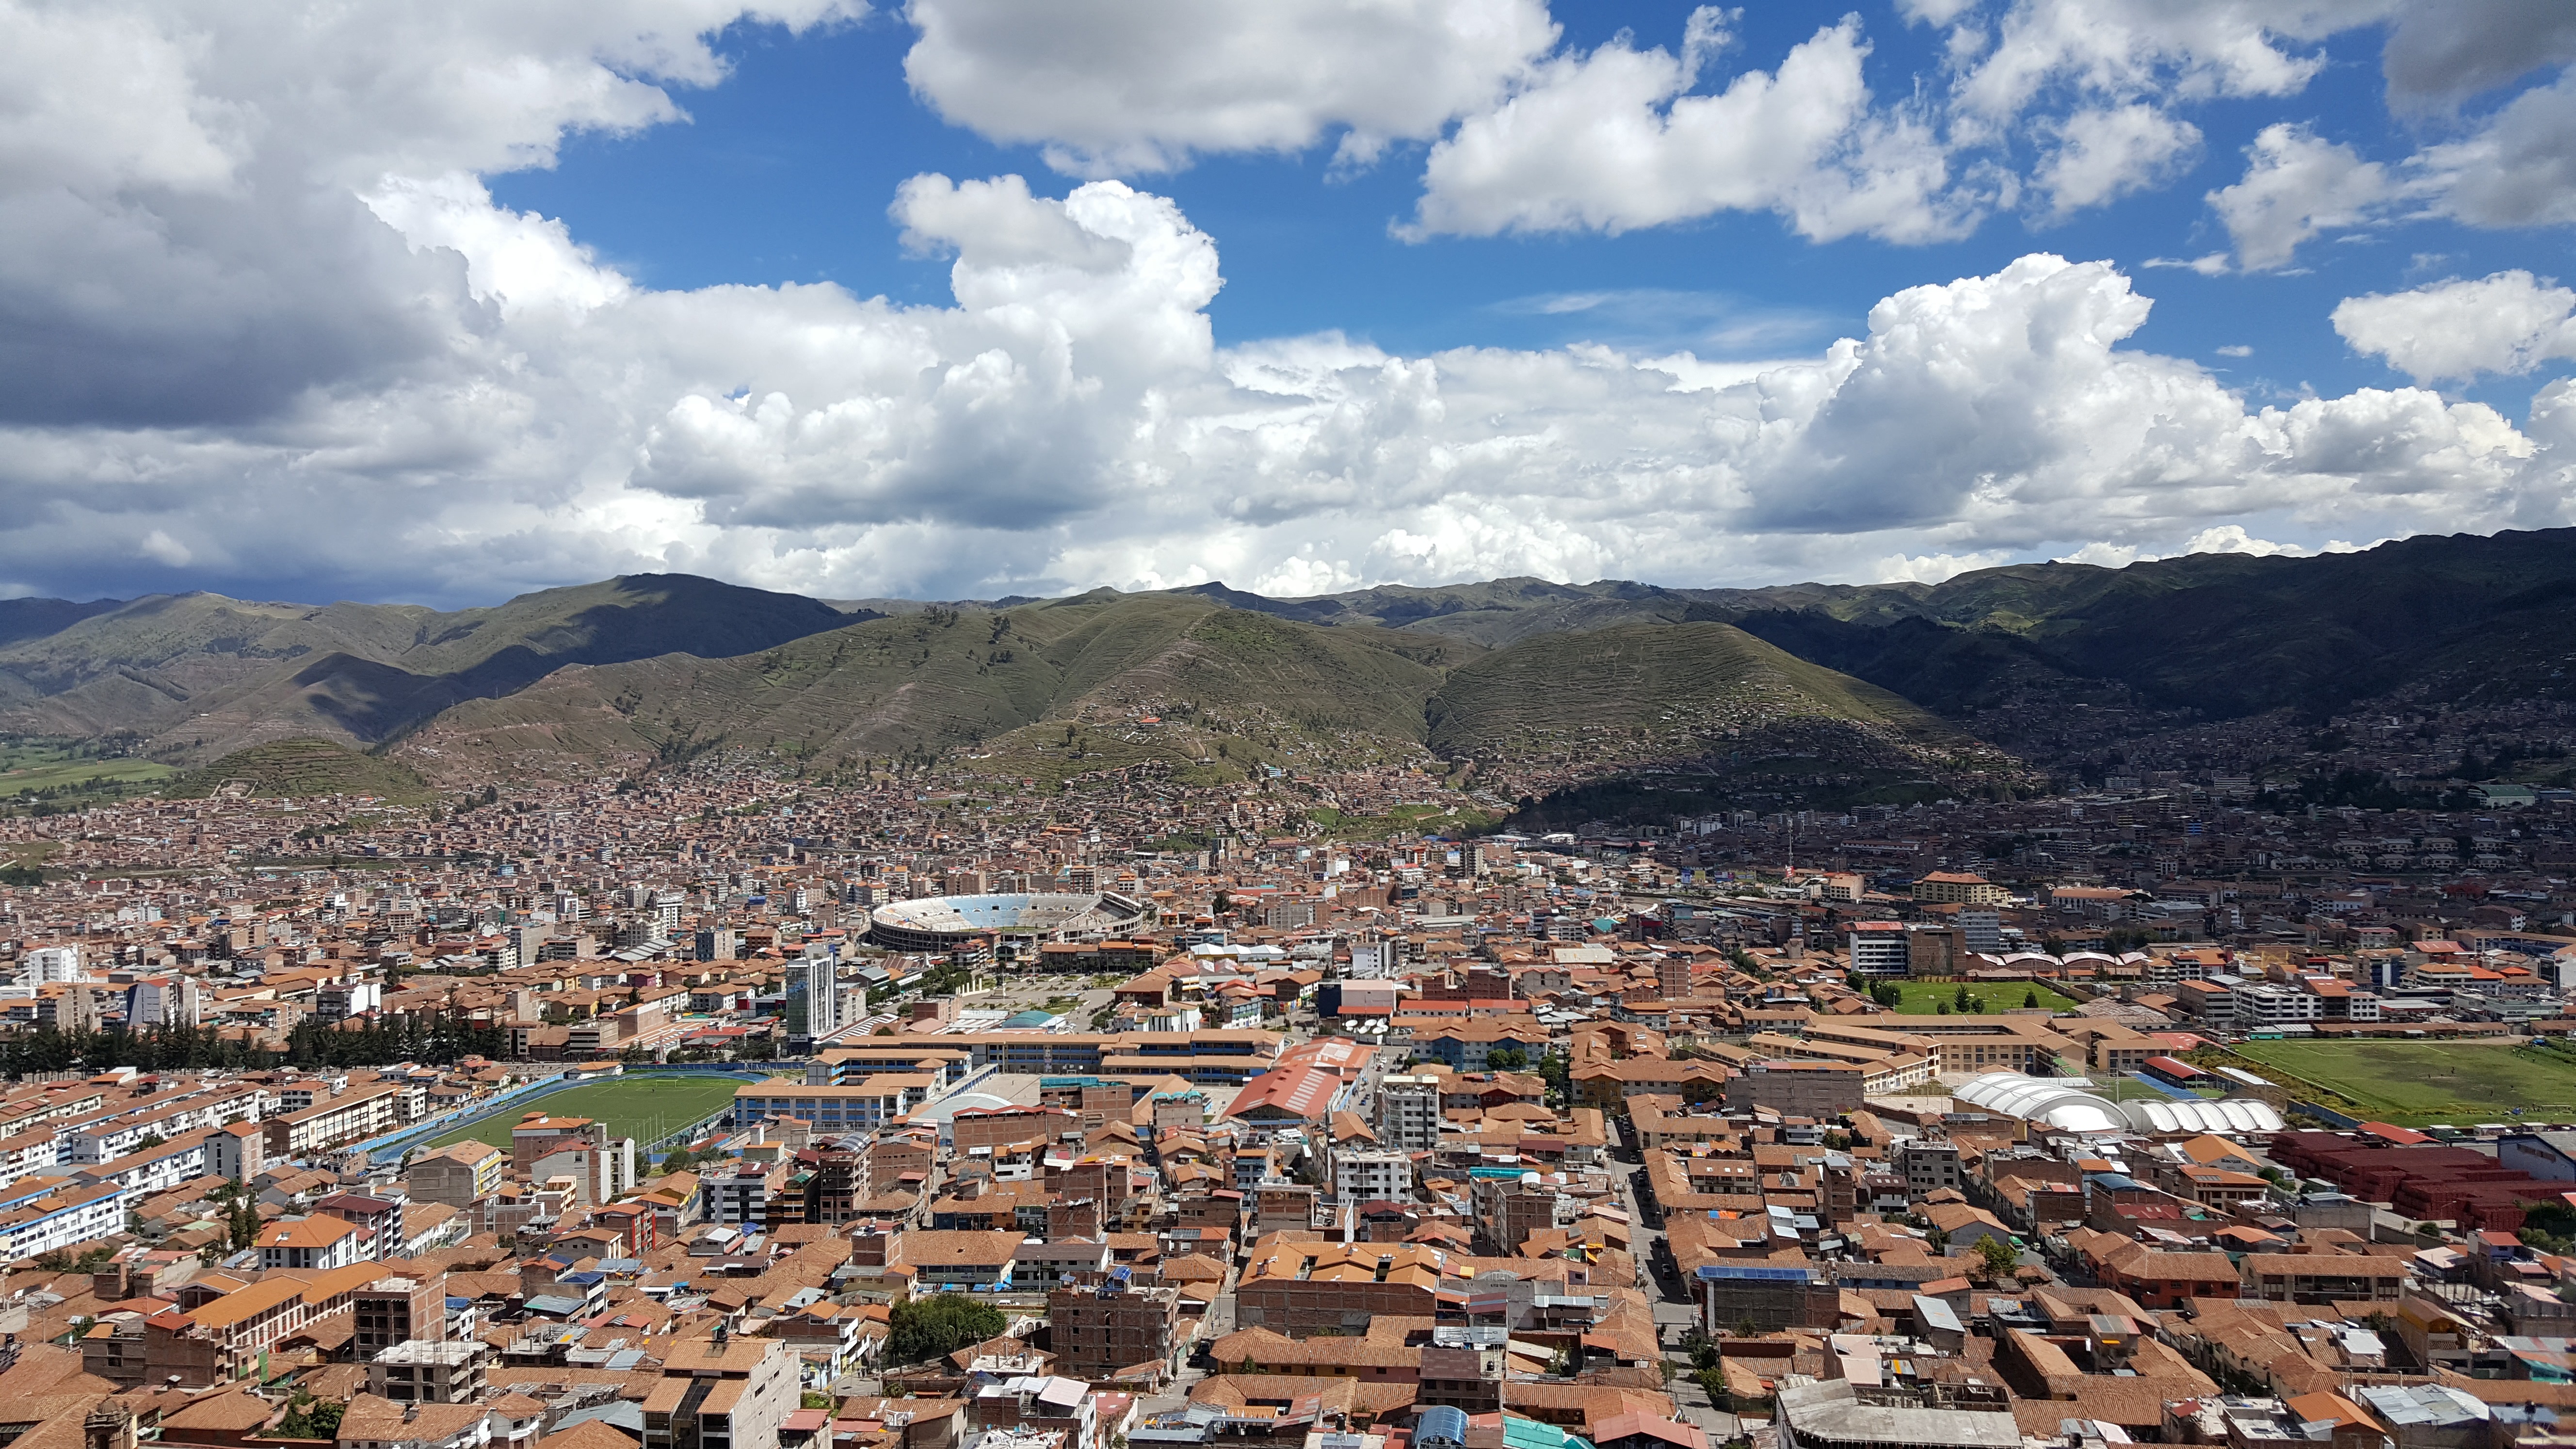
[[[1224,779],[1430,750],[1955,786],[2020,768],[1978,730],[2048,691],[2321,717],[2411,694],[2566,699],[2571,668],[2568,529],[1940,585],[1512,578],[832,603],[644,575],[456,614],[0,601],[0,735],[124,740],[175,766],[410,740],[451,766],[737,748],[829,768],[963,753],[1020,779],[1144,763]]]

